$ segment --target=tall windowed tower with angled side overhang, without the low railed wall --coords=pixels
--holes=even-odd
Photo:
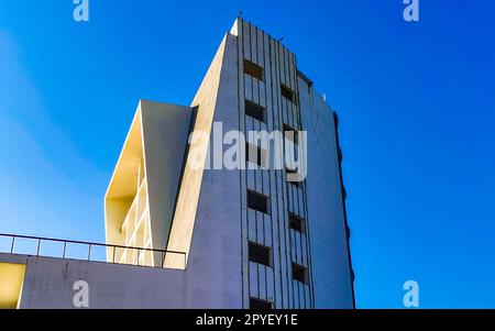
[[[185,252],[185,258],[141,258],[185,269],[188,288],[196,287],[191,305],[354,306],[337,117],[298,69],[295,54],[238,19],[190,108],[143,101],[134,126],[141,134],[134,137],[131,129],[107,195],[110,243],[134,246],[132,240],[141,239],[139,245],[148,249]],[[213,132],[219,128],[220,133]],[[189,134],[198,131],[210,139],[187,145]],[[246,163],[251,154],[274,158],[270,146],[249,141],[250,132],[307,132],[307,177],[289,181],[287,168],[213,168],[213,150],[220,148],[222,162],[231,148],[213,147],[215,135],[223,141],[222,133],[235,131],[248,140]],[[134,140],[141,150],[127,158]],[[193,158],[204,166],[188,166]],[[128,163],[133,164],[129,173],[119,172]],[[133,187],[125,189],[130,194],[121,194],[120,181]],[[142,198],[147,202],[140,203]],[[143,205],[142,212],[129,212],[128,205]],[[113,206],[123,206],[122,212]],[[135,225],[122,221],[125,216]],[[140,225],[147,232],[128,231]]]

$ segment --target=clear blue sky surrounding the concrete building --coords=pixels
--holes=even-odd
[[[340,113],[358,307],[495,308],[495,4],[0,0],[0,232],[105,241],[140,98],[189,104],[239,11]]]

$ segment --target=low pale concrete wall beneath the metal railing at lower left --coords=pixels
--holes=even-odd
[[[99,262],[0,254],[26,265],[21,309],[73,309],[74,283],[89,285],[89,308],[186,308],[194,296],[184,272]]]

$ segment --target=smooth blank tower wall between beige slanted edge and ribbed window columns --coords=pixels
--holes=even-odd
[[[223,43],[213,121],[227,132],[239,125],[238,67],[235,37],[227,34]],[[240,201],[239,170],[205,170],[186,273],[195,293],[188,307],[242,308]]]

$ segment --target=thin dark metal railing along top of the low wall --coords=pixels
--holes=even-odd
[[[67,260],[81,260],[81,261],[92,261],[92,262],[105,262],[110,264],[125,264],[125,265],[135,265],[135,266],[143,266],[143,267],[156,267],[156,268],[164,268],[165,266],[165,258],[170,255],[175,256],[182,256],[184,257],[184,266],[183,268],[186,268],[187,258],[185,252],[176,252],[176,251],[165,251],[165,250],[154,250],[154,249],[144,249],[144,247],[132,247],[132,246],[123,246],[123,245],[111,245],[111,244],[101,244],[101,243],[95,243],[95,242],[85,242],[85,241],[75,241],[75,240],[62,240],[62,239],[53,239],[53,238],[42,238],[42,236],[30,236],[30,235],[18,235],[18,234],[9,234],[9,233],[0,233],[0,239],[8,239],[10,240],[9,245],[7,250],[2,250],[0,245],[0,253],[10,253],[10,254],[23,254],[23,255],[30,255],[30,256],[45,256],[45,257],[57,257],[57,258],[67,258]],[[16,252],[16,244],[20,243],[20,241],[24,241],[24,244],[26,241],[34,242],[35,249],[34,252]],[[61,251],[62,252],[55,252],[54,254],[42,254],[42,249],[44,243],[59,243],[62,244]],[[86,254],[84,257],[74,257],[68,256],[67,250],[70,245],[79,245],[85,246],[87,249]],[[91,250],[94,249],[105,249],[106,250],[106,256],[105,258],[97,260],[95,255],[91,255]],[[110,250],[109,250],[110,249]],[[135,258],[133,258],[132,262],[127,261],[117,261],[117,251],[121,250],[122,254],[125,254],[128,251],[136,252]],[[140,262],[140,257],[143,256],[141,254],[144,254],[145,252],[151,252],[153,254],[154,258],[156,260],[156,255],[160,257],[161,263],[152,263],[152,264],[145,264]],[[122,255],[121,254],[121,255]],[[111,256],[111,258],[109,258]],[[119,258],[120,260],[120,258]],[[144,260],[144,258],[143,258]],[[183,258],[180,258],[183,260]],[[174,260],[176,261],[176,260]]]

